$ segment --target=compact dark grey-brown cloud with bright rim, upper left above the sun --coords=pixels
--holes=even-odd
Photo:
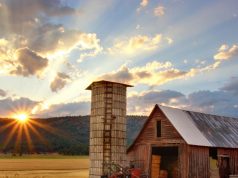
[[[16,56],[16,69],[10,72],[14,75],[40,76],[42,71],[48,66],[48,60],[46,58],[39,56],[28,48],[18,49],[16,51]]]

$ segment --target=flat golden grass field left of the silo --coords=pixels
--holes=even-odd
[[[0,178],[88,178],[87,156],[0,156]]]

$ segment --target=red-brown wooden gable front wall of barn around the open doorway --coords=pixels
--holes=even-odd
[[[160,138],[156,136],[156,123],[158,120],[161,120]],[[135,165],[139,165],[140,168],[149,174],[152,146],[179,146],[181,143],[185,144],[182,137],[164,116],[162,111],[156,109],[149,117],[148,123],[137,138],[136,143],[128,151],[127,159],[128,161],[135,162]],[[181,148],[183,148],[182,150],[186,149],[186,147]],[[181,154],[181,156],[179,156],[179,159],[180,158],[185,160],[187,157],[185,154]],[[183,167],[186,167],[186,165]]]

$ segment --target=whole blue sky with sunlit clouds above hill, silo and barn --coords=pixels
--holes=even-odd
[[[0,0],[0,117],[90,114],[93,81],[238,118],[237,0]]]

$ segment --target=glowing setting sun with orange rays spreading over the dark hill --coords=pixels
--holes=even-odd
[[[44,129],[51,134],[65,137],[64,132],[55,129],[48,124],[38,122],[38,119],[31,119],[30,117],[31,116],[27,110],[15,110],[14,114],[11,114],[11,118],[13,118],[13,120],[6,125],[0,126],[0,134],[10,129],[9,131],[7,131],[7,133],[9,134],[6,136],[5,141],[2,145],[3,149],[6,149],[8,145],[12,143],[12,140],[15,140],[14,152],[21,153],[21,145],[23,143],[23,140],[26,140],[28,151],[34,152],[36,150],[34,150],[35,147],[32,139],[33,136],[36,136],[36,138],[41,143],[49,148],[50,143],[46,138],[43,137],[43,135],[40,134],[41,129]]]

